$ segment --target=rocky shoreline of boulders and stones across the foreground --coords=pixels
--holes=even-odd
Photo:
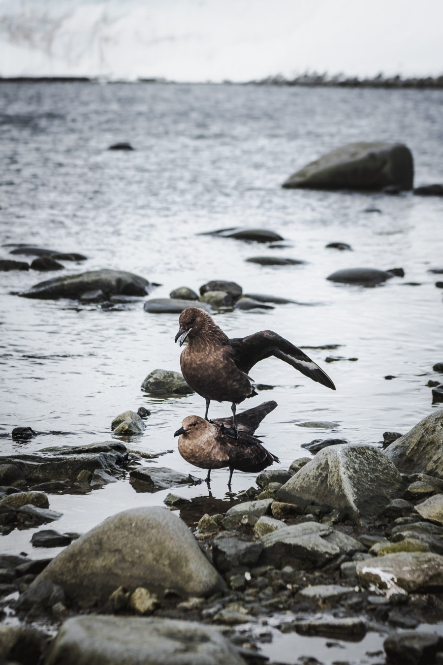
[[[373,634],[384,652],[367,662],[442,662],[442,428],[438,410],[384,450],[326,441],[259,474],[227,511],[174,494],[197,479],[115,440],[3,456],[3,533],[55,521],[51,493],[128,479],[172,491],[167,507],[117,513],[82,536],[43,529],[34,546],[67,545],[54,559],[0,556],[2,662],[322,662],[267,658],[277,634],[331,650]]]

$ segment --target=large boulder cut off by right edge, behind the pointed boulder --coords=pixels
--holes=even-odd
[[[420,420],[384,454],[401,473],[426,473],[443,479],[443,410]]]

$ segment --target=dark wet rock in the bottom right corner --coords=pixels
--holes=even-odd
[[[426,665],[434,660],[438,651],[443,651],[443,637],[432,632],[412,630],[394,633],[383,642],[390,662],[399,665]]]

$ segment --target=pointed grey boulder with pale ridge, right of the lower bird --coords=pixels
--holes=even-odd
[[[402,484],[400,473],[378,448],[345,444],[323,448],[277,491],[277,499],[337,508],[360,524],[400,497]]]

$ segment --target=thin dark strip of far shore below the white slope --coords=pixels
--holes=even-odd
[[[169,83],[177,84],[178,81],[165,78],[138,78],[137,80],[105,80],[96,76],[0,76],[0,83]],[[181,81],[183,84],[190,82]],[[372,78],[359,78],[359,76],[345,76],[345,74],[319,74],[317,72],[299,74],[295,78],[285,78],[283,74],[265,76],[265,78],[254,79],[241,83],[231,80],[222,82],[200,82],[193,85],[273,85],[273,86],[325,86],[330,88],[416,88],[418,90],[443,90],[443,74],[439,76],[410,76],[403,78],[401,74],[395,76],[383,76],[378,74]]]

